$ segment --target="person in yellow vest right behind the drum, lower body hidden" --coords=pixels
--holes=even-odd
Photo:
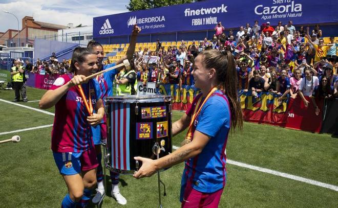
[[[120,79],[116,80],[116,84],[119,86],[118,95],[136,95],[136,72],[128,68]]]

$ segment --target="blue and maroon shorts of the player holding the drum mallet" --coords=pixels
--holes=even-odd
[[[62,175],[75,175],[81,171],[97,168],[95,149],[92,147],[86,151],[75,152],[53,152],[55,164]]]

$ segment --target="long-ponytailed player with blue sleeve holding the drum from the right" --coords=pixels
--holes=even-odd
[[[183,146],[156,160],[135,157],[142,161],[142,166],[134,177],[149,177],[159,169],[185,161],[182,207],[216,208],[226,182],[228,133],[230,128],[243,125],[235,59],[229,51],[203,51],[195,59],[192,75],[202,93],[186,114],[173,123],[173,135],[188,128]]]

